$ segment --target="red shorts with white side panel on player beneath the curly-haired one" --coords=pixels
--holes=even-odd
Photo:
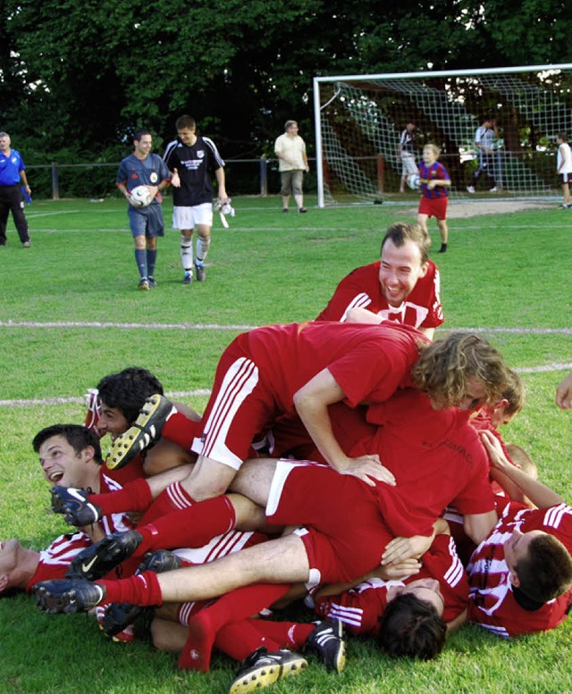
[[[301,525],[309,586],[355,581],[382,560],[393,538],[377,497],[357,477],[315,463],[278,461],[266,517],[271,525]]]

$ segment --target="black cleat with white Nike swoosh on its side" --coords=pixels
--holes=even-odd
[[[142,541],[138,531],[112,532],[74,556],[65,577],[97,581],[131,556]]]

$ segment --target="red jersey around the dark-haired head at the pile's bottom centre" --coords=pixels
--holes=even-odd
[[[467,608],[468,602],[467,573],[457,556],[453,539],[449,535],[437,535],[421,561],[421,571],[402,581],[372,578],[344,590],[340,595],[318,598],[315,612],[324,619],[339,619],[344,623],[346,631],[355,636],[378,636],[380,617],[385,612],[387,592],[391,586],[403,586],[418,579],[433,578],[439,581],[445,601],[443,619],[445,622],[452,622]]]

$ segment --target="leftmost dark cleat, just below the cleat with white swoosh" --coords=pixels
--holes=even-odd
[[[48,615],[88,612],[105,598],[103,586],[89,581],[41,581],[32,588],[38,609]]]

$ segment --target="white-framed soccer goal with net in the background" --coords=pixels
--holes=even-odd
[[[554,196],[555,138],[572,138],[572,63],[314,79],[318,205],[374,202],[400,189],[400,134],[416,124],[416,155],[442,148],[452,196],[468,196],[475,131],[495,119],[491,156],[501,193]],[[488,190],[486,176],[478,186]],[[476,192],[481,192],[477,187]]]

